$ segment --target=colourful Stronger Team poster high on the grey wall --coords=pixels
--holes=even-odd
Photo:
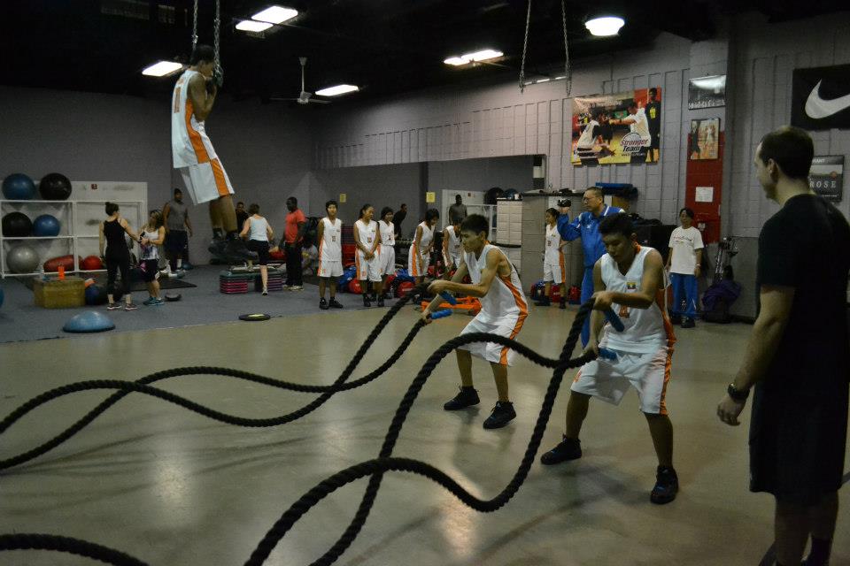
[[[573,99],[574,165],[658,163],[661,87]]]

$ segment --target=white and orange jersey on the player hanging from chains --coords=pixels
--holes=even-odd
[[[207,163],[216,158],[213,143],[206,136],[204,122],[195,119],[189,98],[189,80],[197,71],[186,71],[174,85],[171,97],[171,154],[174,167]]]

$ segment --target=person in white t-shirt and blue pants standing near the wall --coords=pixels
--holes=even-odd
[[[682,226],[670,234],[670,252],[667,256],[667,270],[673,287],[673,316],[670,319],[675,325],[681,324],[682,328],[693,328],[696,326],[694,318],[697,317],[697,278],[705,246],[702,244],[702,234],[692,226],[693,210],[687,207],[679,210],[679,222]]]

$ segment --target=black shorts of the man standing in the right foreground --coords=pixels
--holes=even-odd
[[[773,493],[779,501],[814,505],[841,486],[848,386],[844,381],[811,391],[805,386],[805,375],[797,379],[802,386],[755,386],[750,491]]]

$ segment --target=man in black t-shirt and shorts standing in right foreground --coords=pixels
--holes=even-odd
[[[755,386],[750,490],[776,497],[777,564],[829,561],[844,473],[850,340],[850,226],[808,186],[814,144],[800,128],[767,134],[755,168],[782,206],[761,228],[759,314],[738,374],[717,406],[737,425]]]

